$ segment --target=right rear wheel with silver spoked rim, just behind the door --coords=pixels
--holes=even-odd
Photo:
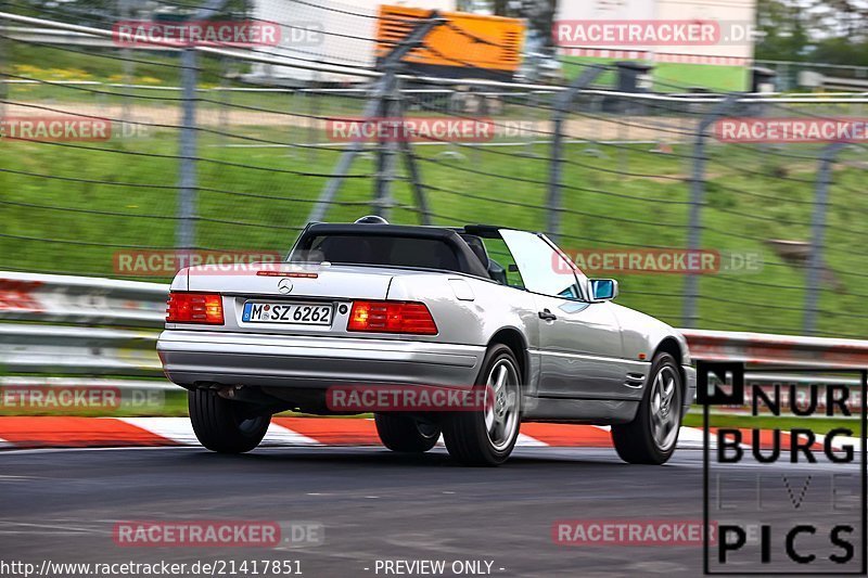
[[[486,390],[485,411],[456,412],[444,422],[443,439],[454,460],[463,465],[488,466],[507,461],[521,426],[520,382],[521,371],[512,350],[500,344],[489,347],[474,386]]]

